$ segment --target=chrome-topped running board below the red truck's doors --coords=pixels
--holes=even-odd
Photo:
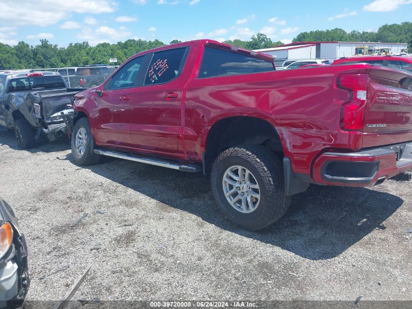
[[[139,162],[139,163],[145,163],[145,164],[150,164],[150,165],[177,169],[182,172],[197,173],[202,170],[202,167],[199,165],[194,165],[194,164],[179,165],[172,161],[149,158],[149,157],[142,157],[142,156],[137,156],[133,154],[117,152],[113,150],[94,149],[93,152],[99,155],[103,155],[103,156],[114,157],[114,158],[125,159],[125,160],[130,160],[130,161]]]

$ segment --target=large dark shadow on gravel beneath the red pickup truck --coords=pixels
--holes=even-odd
[[[71,154],[67,159],[72,161]],[[368,188],[311,185],[306,192],[292,197],[282,219],[255,232],[237,227],[224,217],[215,203],[209,177],[203,174],[119,159],[87,168],[216,227],[311,260],[334,258],[373,230],[385,229],[383,222],[403,204],[395,195]],[[139,202],[131,203],[141,207]]]

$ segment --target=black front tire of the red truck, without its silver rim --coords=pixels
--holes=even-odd
[[[76,136],[78,131],[84,128],[86,130],[86,142],[84,151],[80,154],[76,148]],[[100,161],[100,156],[98,154],[92,153],[92,145],[94,143],[93,135],[90,131],[89,121],[87,118],[80,118],[75,124],[72,134],[71,146],[72,146],[72,155],[75,160],[75,163],[78,165],[94,165]]]

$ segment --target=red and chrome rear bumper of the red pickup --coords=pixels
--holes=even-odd
[[[373,186],[412,171],[412,143],[353,153],[325,152],[313,165],[320,185]]]

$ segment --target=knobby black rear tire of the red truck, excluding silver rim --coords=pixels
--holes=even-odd
[[[226,170],[235,165],[247,168],[259,185],[259,203],[249,213],[236,210],[224,195],[223,177]],[[223,151],[212,166],[211,181],[222,212],[235,224],[249,230],[271,225],[285,214],[290,205],[290,197],[285,192],[282,161],[260,145],[241,145]]]

